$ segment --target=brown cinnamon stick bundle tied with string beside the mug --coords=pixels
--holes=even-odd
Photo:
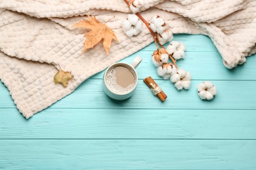
[[[165,101],[167,95],[163,92],[163,90],[161,90],[160,86],[156,84],[156,82],[153,80],[151,76],[144,78],[143,81],[152,90],[154,95],[157,95],[161,101]]]

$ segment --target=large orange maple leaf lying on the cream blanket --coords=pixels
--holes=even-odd
[[[85,42],[83,42],[83,52],[89,48],[93,48],[98,42],[103,39],[103,46],[106,50],[106,53],[109,53],[110,46],[112,44],[112,39],[118,42],[114,31],[110,29],[106,24],[102,24],[95,17],[88,16],[89,20],[83,20],[73,25],[72,27],[83,27],[89,28],[91,31],[85,33],[86,37]]]

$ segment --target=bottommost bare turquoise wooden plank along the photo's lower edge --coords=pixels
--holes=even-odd
[[[256,141],[0,140],[1,169],[256,169]]]

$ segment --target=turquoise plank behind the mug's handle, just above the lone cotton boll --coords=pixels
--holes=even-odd
[[[149,47],[146,47],[149,48]],[[137,72],[139,78],[145,78],[150,75],[157,79],[162,79],[156,72],[156,67],[152,63],[153,50],[140,51],[120,62],[131,63],[133,58],[141,56],[143,58]],[[234,69],[227,69],[219,52],[186,52],[184,59],[179,59],[177,65],[179,68],[189,71],[193,80],[256,80],[254,73],[256,67],[256,55],[247,58],[247,63],[238,65]],[[102,78],[104,71],[92,76],[91,78]]]

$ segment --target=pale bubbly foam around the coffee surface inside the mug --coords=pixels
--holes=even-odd
[[[118,66],[125,67],[123,65],[118,65]],[[136,78],[135,72],[131,68],[128,68],[128,67],[125,67],[125,68],[127,68],[133,74],[133,77],[134,77],[133,84],[130,84],[129,86],[127,86],[127,88],[123,88],[122,86],[117,84],[117,81],[116,81],[116,71],[114,70],[115,67],[110,68],[108,70],[108,72],[106,73],[106,79],[105,79],[106,86],[108,87],[108,89],[110,89],[114,93],[118,93],[118,94],[129,93],[136,86],[136,79],[137,78]]]

